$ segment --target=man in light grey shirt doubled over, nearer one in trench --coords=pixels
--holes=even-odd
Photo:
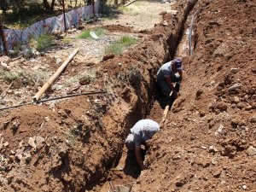
[[[147,167],[143,162],[141,145],[145,145],[145,147],[148,148],[147,141],[151,139],[157,131],[160,131],[160,125],[158,123],[151,119],[142,119],[131,128],[131,134],[129,134],[125,140],[125,146],[129,150],[135,151],[137,163],[142,170]]]

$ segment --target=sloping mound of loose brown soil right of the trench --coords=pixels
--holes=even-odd
[[[256,189],[255,1],[196,9],[195,55],[134,191]]]

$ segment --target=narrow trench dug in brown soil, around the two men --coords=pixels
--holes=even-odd
[[[193,34],[193,29],[190,28],[191,18],[193,17],[193,15],[191,15],[190,13],[192,12],[191,10],[195,6],[195,3],[196,2],[191,3],[189,1],[189,4],[187,5],[188,7],[185,6],[185,9],[183,9],[184,10],[183,16],[182,16],[183,19],[177,20],[177,28],[175,28],[174,31],[172,29],[172,33],[170,34],[170,37],[166,39],[166,53],[164,56],[163,63],[166,61],[172,60],[174,56],[176,57],[189,56],[190,48],[193,49],[192,44],[191,44],[192,46],[189,48],[189,38],[191,40],[190,33],[191,35]],[[163,20],[165,20],[165,18],[166,20],[168,20],[167,19],[168,15],[164,16]],[[175,17],[175,20],[176,19],[177,17]],[[149,74],[150,79],[153,82],[155,77],[154,74],[155,73]],[[155,110],[153,108],[153,105],[155,105],[155,103],[158,103],[156,100],[154,100],[154,90],[151,90],[152,87],[155,89],[154,83],[153,83],[153,86],[147,87],[148,93],[149,93],[147,108],[139,109],[139,110],[143,110],[143,113],[141,113],[141,115],[137,114],[136,119],[142,119],[142,118],[151,119],[152,115],[150,115],[150,113],[152,113],[152,110]],[[159,105],[159,104],[156,104],[156,105]],[[140,103],[140,106],[143,107],[141,103]],[[159,110],[159,108],[156,110]],[[154,118],[154,115],[152,118]],[[134,120],[131,120],[131,121],[135,122]],[[129,130],[130,128],[131,126],[128,126],[125,129]],[[128,151],[127,148],[124,147],[121,157],[119,158],[119,162],[114,168],[108,171],[107,181],[99,183],[98,185],[94,186],[93,189],[91,189],[90,191],[101,191],[101,192],[106,191],[107,192],[107,191],[113,191],[113,189],[115,188],[117,189],[117,191],[131,191],[132,185],[136,183],[137,177],[139,177],[140,174],[141,174],[141,171],[139,166],[137,165],[134,154],[130,153],[130,151]]]

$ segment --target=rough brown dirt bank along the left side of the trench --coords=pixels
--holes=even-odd
[[[106,87],[107,95],[27,106],[1,119],[1,133],[9,141],[2,152],[6,162],[11,155],[15,160],[12,157],[1,172],[0,189],[84,191],[101,183],[118,162],[131,126],[149,113],[155,74],[174,55],[195,2],[183,1],[176,17],[163,15],[168,26],[155,26],[127,54],[100,63],[94,84]],[[29,137],[35,139],[36,148],[28,144]]]

